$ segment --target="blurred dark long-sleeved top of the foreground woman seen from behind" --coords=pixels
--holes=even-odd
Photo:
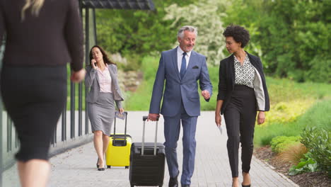
[[[0,45],[6,33],[3,64],[11,66],[54,66],[71,62],[83,68],[83,27],[79,1],[45,1],[39,16],[21,10],[25,0],[0,0]]]

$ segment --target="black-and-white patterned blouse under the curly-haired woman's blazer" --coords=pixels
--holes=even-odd
[[[236,81],[235,84],[241,84],[248,86],[252,89],[254,89],[253,81],[255,78],[255,69],[250,63],[250,58],[246,54],[245,60],[243,62],[243,65],[240,64],[239,60],[234,56],[234,67],[235,67],[235,73],[236,73]]]

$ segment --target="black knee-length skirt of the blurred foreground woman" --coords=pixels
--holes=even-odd
[[[5,65],[1,96],[21,143],[16,159],[49,159],[50,140],[66,103],[66,66]]]

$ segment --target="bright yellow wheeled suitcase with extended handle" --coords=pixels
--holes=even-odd
[[[119,114],[116,113],[116,116]],[[127,135],[127,112],[124,112],[125,130],[124,134],[116,134],[116,118],[114,121],[114,134],[110,135],[110,142],[106,152],[106,165],[111,166],[125,166],[126,169],[130,166],[130,150],[132,145],[132,137]]]

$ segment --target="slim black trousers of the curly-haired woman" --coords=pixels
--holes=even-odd
[[[250,171],[253,152],[253,137],[256,120],[256,98],[254,89],[248,86],[235,85],[231,101],[224,111],[228,133],[228,159],[232,176],[238,176],[238,149],[241,143],[242,170]]]

